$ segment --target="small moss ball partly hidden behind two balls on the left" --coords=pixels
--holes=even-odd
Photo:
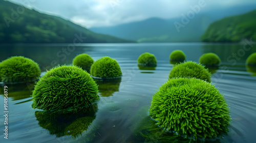
[[[81,67],[82,69],[88,71],[88,73],[90,72],[93,62],[93,58],[88,54],[80,54],[73,59],[73,65]]]

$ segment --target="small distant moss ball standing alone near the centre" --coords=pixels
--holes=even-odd
[[[154,54],[143,53],[138,58],[139,67],[156,67],[157,59]]]

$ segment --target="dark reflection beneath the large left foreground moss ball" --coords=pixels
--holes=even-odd
[[[74,139],[82,135],[95,120],[97,105],[90,106],[90,112],[55,113],[51,111],[36,111],[38,125],[49,131],[50,134],[61,137],[71,135]]]

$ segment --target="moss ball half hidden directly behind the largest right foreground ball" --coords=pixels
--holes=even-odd
[[[211,82],[208,69],[205,69],[204,66],[191,61],[174,66],[170,71],[169,79],[176,77],[190,77]]]

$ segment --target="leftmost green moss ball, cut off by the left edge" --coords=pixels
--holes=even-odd
[[[23,56],[10,57],[0,63],[0,81],[6,83],[34,81],[41,74],[36,62]]]

